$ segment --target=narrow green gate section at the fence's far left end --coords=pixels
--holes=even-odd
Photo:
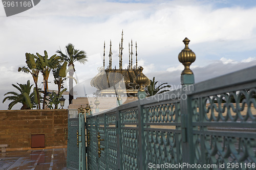
[[[68,119],[68,154],[67,168],[70,170],[86,169],[86,140],[84,114]]]

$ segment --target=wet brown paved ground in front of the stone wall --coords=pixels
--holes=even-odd
[[[0,153],[0,170],[67,169],[67,149],[43,149]]]

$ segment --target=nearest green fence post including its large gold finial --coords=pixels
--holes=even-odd
[[[194,90],[194,74],[189,66],[196,60],[196,55],[188,48],[189,39],[183,40],[185,48],[180,52],[178,58],[184,65],[181,73],[181,135],[182,135],[182,160],[183,163],[194,163],[194,143],[193,143],[193,125],[192,125],[192,107],[189,92]],[[192,88],[192,89],[191,89]],[[185,167],[184,169],[190,169]]]

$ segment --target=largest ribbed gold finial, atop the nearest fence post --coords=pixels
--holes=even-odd
[[[192,75],[193,72],[189,66],[196,60],[196,54],[188,48],[189,39],[183,40],[185,48],[180,52],[178,59],[184,65],[185,69],[181,72],[181,75]]]

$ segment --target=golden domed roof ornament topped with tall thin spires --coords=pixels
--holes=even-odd
[[[131,48],[130,48],[131,44]],[[140,74],[138,68],[138,58],[137,58],[137,42],[136,42],[136,65],[133,66],[132,56],[133,56],[133,40],[129,42],[129,65],[126,69],[122,68],[122,55],[123,55],[123,31],[121,42],[119,43],[119,68],[112,68],[112,44],[110,41],[110,64],[107,68],[103,68],[100,72],[91,80],[91,86],[96,87],[100,94],[117,94],[115,88],[120,82],[120,87],[123,89],[123,93],[127,95],[138,93],[138,83],[136,82],[136,77]],[[128,49],[127,49],[128,50]],[[131,50],[131,51],[130,51]],[[105,51],[104,51],[105,53]],[[104,62],[103,62],[104,64]],[[142,68],[143,69],[143,68]],[[143,74],[144,75],[144,74]],[[150,85],[150,79],[144,75],[145,83],[144,86]],[[119,87],[119,86],[117,86]],[[118,88],[119,89],[119,88]]]

